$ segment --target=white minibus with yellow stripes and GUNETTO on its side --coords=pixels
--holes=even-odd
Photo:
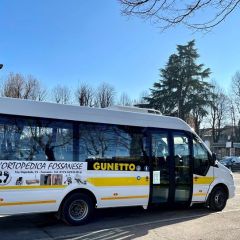
[[[205,203],[221,211],[233,175],[184,121],[146,109],[0,98],[0,215]]]

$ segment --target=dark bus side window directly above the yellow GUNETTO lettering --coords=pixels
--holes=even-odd
[[[80,123],[79,126],[79,160],[82,162],[148,160],[142,128],[97,123]]]

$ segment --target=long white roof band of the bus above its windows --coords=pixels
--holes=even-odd
[[[0,114],[193,131],[176,117],[16,98],[0,97]]]

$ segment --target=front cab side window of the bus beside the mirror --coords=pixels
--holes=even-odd
[[[193,139],[193,173],[206,175],[210,166],[209,153],[207,149],[196,139]]]

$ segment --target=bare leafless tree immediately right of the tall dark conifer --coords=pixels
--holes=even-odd
[[[221,131],[226,120],[230,115],[230,100],[224,91],[213,82],[211,104],[209,113],[209,123],[212,129],[212,139],[214,143],[217,143],[221,136]]]

